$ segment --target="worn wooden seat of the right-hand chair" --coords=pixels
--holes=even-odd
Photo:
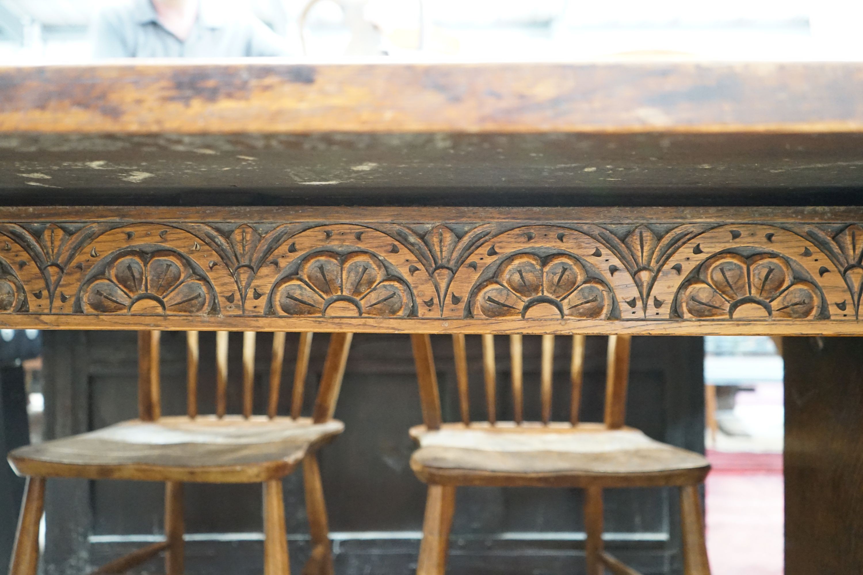
[[[434,431],[419,426],[411,434],[419,441],[411,466],[431,484],[683,485],[702,482],[710,467],[702,455],[638,429],[595,423],[458,423]]]

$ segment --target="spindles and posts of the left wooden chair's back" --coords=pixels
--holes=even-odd
[[[160,401],[160,344],[159,331],[138,332],[138,403],[142,421],[154,421],[161,416]],[[293,374],[290,416],[298,419],[302,415],[305,401],[306,376],[312,353],[312,333],[300,333],[297,345],[297,360]],[[228,341],[230,333],[216,332],[216,416],[222,418],[228,407]],[[324,359],[324,369],[318,384],[318,396],[314,403],[314,422],[325,422],[332,418],[338,393],[344,376],[344,367],[350,351],[353,334],[331,334],[330,347]],[[255,405],[255,352],[257,334],[243,332],[243,417],[253,415]],[[278,416],[282,366],[285,361],[286,333],[274,332],[270,354],[267,416]],[[198,368],[200,346],[197,331],[186,332],[186,413],[195,418],[198,413]]]

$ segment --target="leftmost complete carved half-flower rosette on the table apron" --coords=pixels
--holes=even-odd
[[[169,250],[119,253],[80,293],[85,313],[205,314],[213,303],[206,278]]]

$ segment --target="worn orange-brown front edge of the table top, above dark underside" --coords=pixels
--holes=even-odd
[[[5,67],[0,85],[3,132],[863,130],[863,109],[857,105],[863,66],[853,62],[298,65],[139,60]]]

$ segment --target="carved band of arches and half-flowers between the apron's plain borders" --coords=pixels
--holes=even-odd
[[[0,223],[0,314],[857,321],[857,223]]]

